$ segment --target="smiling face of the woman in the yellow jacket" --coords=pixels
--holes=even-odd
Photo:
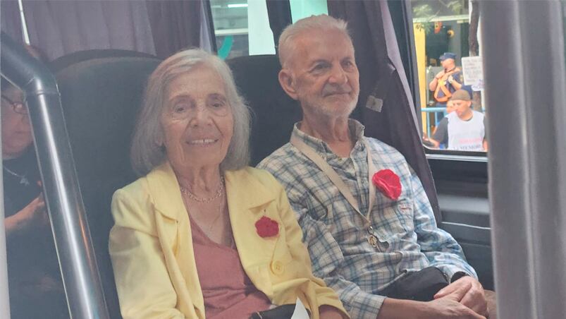
[[[161,126],[173,168],[219,165],[228,152],[233,121],[224,82],[213,69],[196,66],[171,81]]]

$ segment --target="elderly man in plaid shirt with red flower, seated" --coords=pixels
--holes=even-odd
[[[279,54],[279,82],[303,117],[259,167],[285,186],[314,273],[352,318],[484,318],[484,289],[436,227],[417,175],[348,119],[359,73],[346,23],[299,20],[283,31]]]

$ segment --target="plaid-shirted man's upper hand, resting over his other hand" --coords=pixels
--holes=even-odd
[[[457,279],[455,282],[444,287],[434,295],[434,299],[443,299],[453,295],[453,300],[462,303],[480,315],[487,315],[487,301],[484,287],[470,276]],[[457,296],[462,296],[457,299]]]

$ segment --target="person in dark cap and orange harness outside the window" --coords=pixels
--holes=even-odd
[[[429,90],[434,92],[436,107],[445,107],[453,92],[462,88],[462,70],[456,66],[456,54],[445,52],[439,58],[444,68],[429,83]]]

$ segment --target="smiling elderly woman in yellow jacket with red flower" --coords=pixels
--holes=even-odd
[[[216,56],[179,52],[149,78],[132,147],[145,176],[112,203],[124,318],[249,318],[297,298],[312,318],[347,316],[313,277],[283,188],[246,166],[249,133],[249,111]]]

